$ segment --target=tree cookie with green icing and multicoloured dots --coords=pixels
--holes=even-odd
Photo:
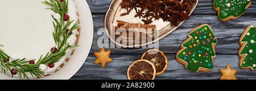
[[[209,72],[213,68],[217,39],[208,24],[196,27],[181,44],[176,59],[185,68],[199,72]]]

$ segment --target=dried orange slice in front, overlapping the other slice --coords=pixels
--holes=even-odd
[[[134,61],[127,70],[129,80],[154,80],[156,69],[151,61],[140,59]]]

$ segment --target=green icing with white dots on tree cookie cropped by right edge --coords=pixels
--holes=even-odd
[[[252,67],[256,69],[256,28],[251,26],[246,34],[243,36],[241,42],[247,42],[243,47],[240,55],[247,54],[241,68]]]

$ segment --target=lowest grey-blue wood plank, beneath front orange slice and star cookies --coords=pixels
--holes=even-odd
[[[167,70],[155,79],[215,79],[218,80],[221,76],[219,69],[225,69],[226,65],[230,65],[232,69],[237,69],[238,72],[235,75],[237,79],[256,79],[256,71],[250,71],[249,69],[241,69],[238,67],[238,60],[240,57],[237,55],[216,55],[213,60],[213,69],[210,72],[192,72],[184,68],[183,64],[176,61],[175,55],[166,55],[168,59]],[[140,59],[141,55],[138,54],[126,54],[110,55],[113,59],[113,63],[107,63],[105,68],[101,68],[100,64],[94,64],[96,57],[90,54],[86,59],[84,65],[82,65],[79,72],[76,73],[71,79],[127,79],[127,68],[133,61]]]

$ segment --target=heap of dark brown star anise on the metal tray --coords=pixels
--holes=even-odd
[[[177,22],[181,22],[189,18],[191,8],[196,0],[122,0],[121,8],[126,9],[128,15],[131,10],[135,9],[134,16],[143,18],[144,24],[152,23],[152,19],[163,19],[164,22],[171,22],[177,26]],[[139,8],[138,8],[139,7]],[[143,13],[146,11],[146,13]]]

